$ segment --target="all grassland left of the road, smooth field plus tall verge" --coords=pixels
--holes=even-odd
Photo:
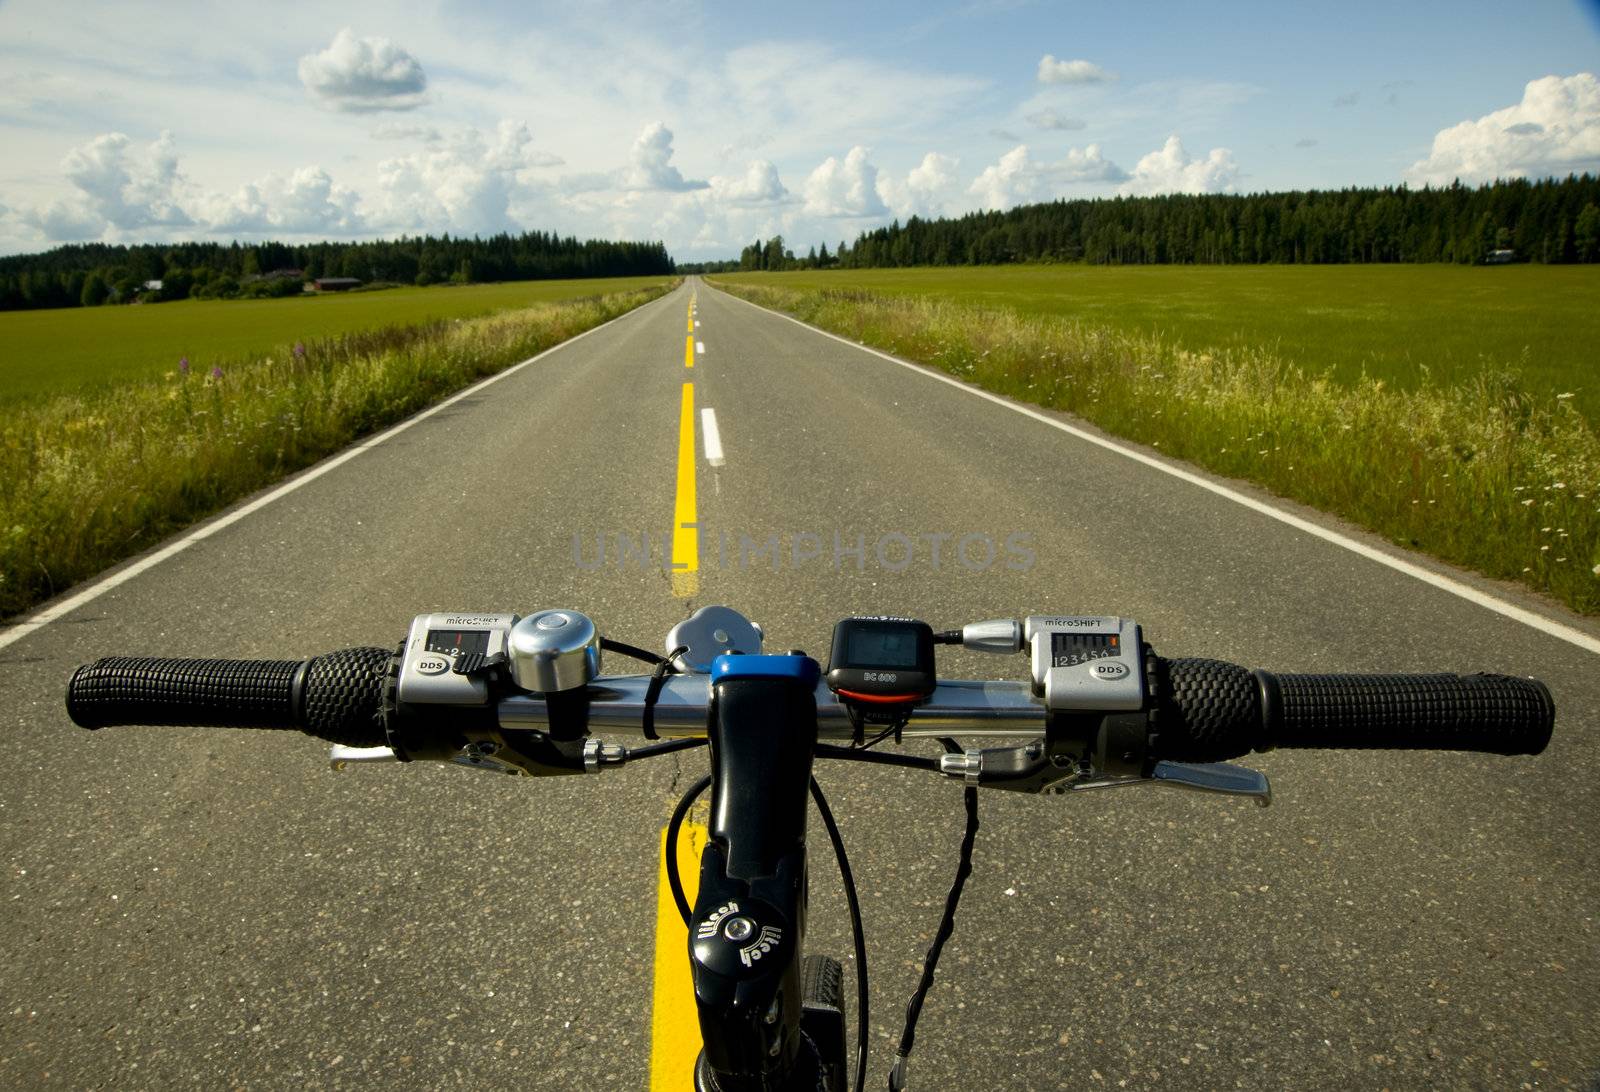
[[[13,400],[0,413],[0,616],[674,283],[566,282],[566,298],[544,283],[534,287],[542,301],[523,295],[520,307],[477,317],[435,311],[429,319],[426,307],[493,306],[514,298],[510,285],[48,312],[62,336],[75,320],[91,325],[77,328],[78,351],[62,357],[64,391]],[[603,288],[611,291],[598,295]],[[250,317],[235,320],[240,312]],[[341,315],[360,325],[338,333]],[[210,336],[197,335],[206,323]],[[146,344],[160,346],[165,359],[150,362],[149,347],[141,354],[125,344],[120,375],[96,367],[85,346],[98,339],[115,352],[117,331],[130,328],[146,330]],[[184,349],[162,343],[157,330],[168,338],[187,331],[200,344],[232,331],[232,344],[264,349],[251,359],[242,347],[224,357],[190,346],[184,375],[174,367]],[[302,341],[299,351],[294,341]]]

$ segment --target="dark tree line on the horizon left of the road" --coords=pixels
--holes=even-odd
[[[283,296],[320,277],[432,285],[672,272],[672,258],[661,242],[579,242],[538,231],[488,239],[418,235],[307,245],[74,243],[0,258],[0,311]]]

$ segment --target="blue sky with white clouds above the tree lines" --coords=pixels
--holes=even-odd
[[[1600,173],[1600,0],[0,0],[0,253]]]

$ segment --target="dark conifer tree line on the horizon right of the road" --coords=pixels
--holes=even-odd
[[[1501,253],[1496,253],[1501,251]],[[1506,255],[1504,251],[1510,251]],[[1171,194],[1022,205],[954,219],[910,218],[797,258],[782,237],[755,240],[734,269],[1090,264],[1600,261],[1600,179],[1486,186]]]

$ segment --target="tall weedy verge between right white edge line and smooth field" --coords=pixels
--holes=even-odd
[[[1181,344],[1080,320],[1066,304],[1027,314],[851,279],[714,283],[1600,613],[1600,437],[1571,387],[1534,392],[1510,362],[1410,387],[1339,381],[1270,341]],[[1573,386],[1590,370],[1573,367]]]

